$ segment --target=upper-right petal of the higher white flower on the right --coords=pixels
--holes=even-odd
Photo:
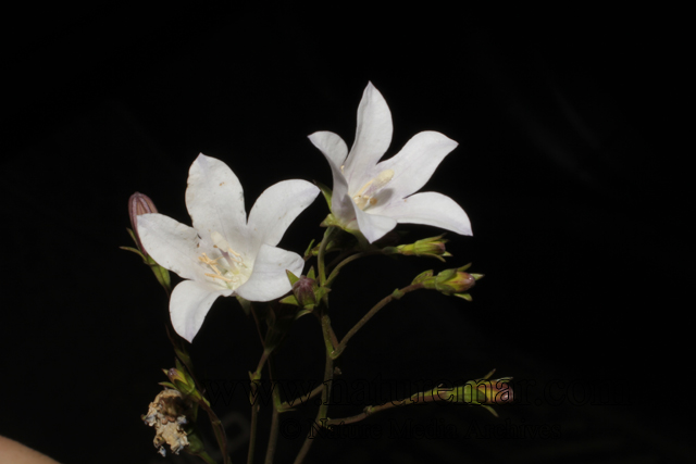
[[[370,173],[375,177],[381,172],[391,170],[394,177],[386,186],[393,198],[400,200],[419,191],[433,176],[445,156],[457,148],[457,142],[440,133],[423,131],[413,136],[401,151],[377,164]],[[380,214],[375,209],[375,214]]]

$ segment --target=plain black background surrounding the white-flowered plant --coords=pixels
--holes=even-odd
[[[448,236],[449,263],[472,261],[486,277],[473,303],[422,294],[384,309],[351,342],[345,378],[456,380],[497,367],[536,381],[540,404],[499,406],[500,419],[432,406],[368,421],[385,435],[393,419],[439,417],[460,432],[508,419],[560,436],[323,440],[307,462],[693,456],[692,154],[682,143],[692,57],[676,16],[568,10],[504,21],[437,4],[17,13],[3,41],[0,434],[64,463],[161,461],[139,415],[173,363],[166,301],[117,248],[130,244],[128,197],[145,192],[187,223],[199,152],[234,170],[247,208],[282,179],[330,185],[306,136],[332,130],[350,145],[371,80],[393,114],[387,155],[426,129],[460,143],[423,190],[468,212],[474,236]],[[321,238],[325,214],[319,199],[281,246],[299,252]],[[403,228],[413,240],[438,233]],[[339,334],[415,274],[445,268],[397,262],[372,258],[341,274],[332,293]],[[283,375],[320,378],[321,350],[318,324],[301,319],[278,359]],[[201,377],[241,379],[260,347],[252,322],[223,300],[191,351]],[[604,381],[623,403],[551,404],[544,389],[574,380]],[[236,400],[221,415],[244,423],[248,406]],[[284,441],[277,462],[291,462],[300,442]]]

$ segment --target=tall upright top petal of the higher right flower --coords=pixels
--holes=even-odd
[[[344,173],[351,188],[360,188],[364,176],[391,143],[391,113],[382,93],[368,84],[358,106],[358,128]]]

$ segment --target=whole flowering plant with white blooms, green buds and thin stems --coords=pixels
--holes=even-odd
[[[217,417],[209,399],[214,398],[211,397],[211,391],[214,393],[213,384],[208,388],[196,377],[194,360],[188,352],[188,343],[184,341],[194,340],[219,297],[238,297],[247,315],[252,316],[247,325],[243,322],[238,327],[231,327],[231,338],[236,336],[236,330],[252,331],[259,336],[258,362],[251,360],[250,363],[236,353],[229,358],[231,369],[238,376],[236,378],[244,377],[246,383],[248,374],[249,379],[249,384],[241,389],[246,390],[244,401],[249,401],[251,406],[248,435],[239,436],[238,428],[231,430],[237,434],[235,441],[249,440],[247,464],[260,462],[254,453],[259,448],[257,436],[261,429],[258,425],[263,417],[260,414],[262,407],[272,409],[268,440],[261,440],[266,444],[266,464],[274,462],[276,448],[282,449],[276,447],[281,436],[287,440],[299,438],[295,432],[299,431],[297,427],[290,429],[281,426],[284,421],[282,417],[289,411],[316,407],[315,413],[311,412],[315,418],[309,419],[307,435],[302,432],[302,444],[297,447],[294,463],[300,464],[318,438],[343,437],[340,430],[344,426],[391,407],[428,402],[463,403],[486,407],[495,414],[492,404],[507,404],[513,398],[508,385],[510,378],[490,379],[490,372],[477,380],[452,383],[451,386],[445,386],[438,378],[433,384],[435,388],[415,387],[421,391],[403,392],[400,398],[390,398],[389,401],[373,405],[356,404],[353,415],[336,417],[334,411],[330,414],[330,407],[335,410],[336,402],[336,392],[332,392],[333,381],[336,375],[341,374],[337,365],[339,359],[353,337],[359,337],[360,329],[377,312],[390,304],[400,305],[400,301],[408,299],[409,293],[421,290],[430,291],[433,298],[457,297],[472,301],[471,290],[478,285],[483,275],[469,274],[469,265],[442,271],[426,269],[417,276],[407,276],[400,288],[389,289],[366,311],[353,305],[348,308],[349,311],[340,311],[341,294],[346,289],[372,294],[372,287],[382,283],[380,278],[364,278],[358,274],[360,278],[353,285],[335,286],[347,265],[353,266],[359,260],[384,256],[395,260],[436,258],[439,262],[447,262],[451,258],[446,248],[448,240],[443,235],[399,244],[401,235],[393,233],[389,234],[393,240],[377,241],[397,224],[425,224],[471,235],[467,213],[451,198],[437,192],[417,193],[443,159],[457,147],[457,142],[440,133],[422,131],[411,138],[395,156],[380,161],[391,141],[391,114],[372,84],[368,84],[358,109],[358,129],[350,151],[346,142],[333,133],[319,131],[309,138],[328,161],[334,186],[333,191],[321,186],[330,214],[320,224],[325,227],[321,242],[314,244],[319,237],[312,234],[303,256],[276,246],[290,223],[319,195],[320,188],[304,180],[285,180],[270,187],[261,193],[247,217],[244,192],[235,174],[222,161],[200,154],[189,170],[186,189],[186,206],[192,227],[158,214],[154,203],[139,193],[129,201],[134,228],[129,233],[137,248],[124,248],[140,255],[166,290],[174,328],[167,331],[176,355],[175,367],[163,369],[169,381],[160,383],[164,390],[160,390],[147,414],[141,416],[147,425],[154,428],[153,444],[163,455],[169,447],[175,454],[192,454],[207,464],[216,463],[213,455],[220,456],[223,464],[232,464],[225,422]],[[368,242],[372,246],[366,247]],[[306,261],[313,263],[307,274],[302,274]],[[173,291],[165,269],[185,279]],[[395,277],[399,277],[399,274],[402,273],[395,273]],[[428,305],[426,310],[437,311],[437,304]],[[355,312],[361,312],[358,322],[355,322]],[[332,317],[346,317],[348,313],[349,318],[343,318],[343,324],[334,327]],[[391,314],[398,317],[399,313]],[[306,341],[306,337],[287,337],[295,321],[304,316],[316,319],[316,337],[321,337],[323,343],[315,343],[314,347],[322,351],[324,374],[321,378],[301,379],[302,387],[275,388],[277,383],[284,381],[278,380],[283,377],[279,377],[277,366],[288,360],[287,352],[283,356],[277,354],[290,340]],[[345,327],[347,321],[353,321],[355,325],[345,331],[338,329]],[[406,338],[409,344],[418,342],[418,334],[419,327],[413,327],[413,335]],[[387,340],[395,338],[390,326],[386,326],[377,336]],[[370,341],[363,338],[360,343]],[[215,354],[216,362],[222,355]],[[440,350],[437,356],[447,356],[447,353]],[[290,374],[288,369],[312,359],[315,356],[290,359],[282,372]],[[390,360],[380,359],[380,362],[389,363]],[[355,363],[348,363],[341,368],[355,366]],[[414,372],[413,375],[419,373]],[[289,378],[293,378],[291,374]],[[304,390],[306,386],[310,387]],[[270,392],[271,402],[257,401],[262,398],[262,391]],[[299,393],[298,397],[291,398],[295,393]],[[314,401],[309,401],[315,397]],[[321,401],[318,401],[319,397]],[[203,429],[198,426],[199,411],[204,411],[210,419],[220,454],[211,455],[206,450],[208,440],[202,436]],[[293,421],[300,424],[296,418]],[[293,434],[284,434],[284,430]],[[290,448],[283,449],[286,452]],[[234,456],[235,462],[240,462],[239,457]],[[282,456],[282,461],[288,462],[287,457]]]

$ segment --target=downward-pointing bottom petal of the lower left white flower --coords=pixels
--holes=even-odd
[[[204,283],[184,280],[174,288],[170,300],[174,329],[186,340],[192,341],[217,297],[228,297],[232,293],[232,290],[214,289]]]

